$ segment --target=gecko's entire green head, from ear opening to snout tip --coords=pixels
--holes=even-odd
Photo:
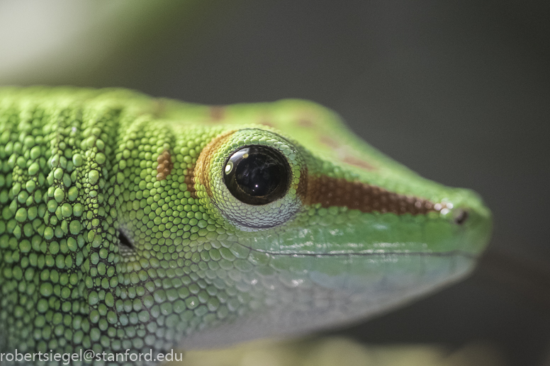
[[[417,176],[325,108],[215,112],[208,127],[140,125],[116,153],[120,309],[139,295],[168,346],[378,314],[464,277],[488,243],[478,195]]]

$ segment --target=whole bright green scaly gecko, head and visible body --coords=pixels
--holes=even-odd
[[[122,89],[0,89],[0,213],[0,354],[96,365],[387,311],[467,275],[491,229],[315,103]]]

